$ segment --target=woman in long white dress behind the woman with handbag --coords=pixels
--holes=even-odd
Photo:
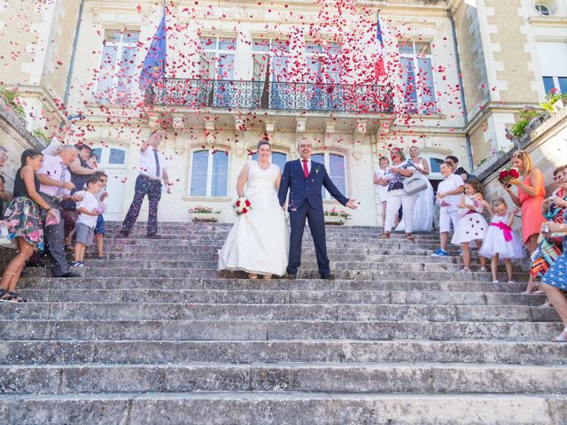
[[[429,182],[427,175],[430,174],[429,162],[426,159],[419,158],[420,151],[417,146],[412,146],[409,150],[409,161],[416,166],[417,175],[427,183],[427,189],[419,192],[414,209],[414,231],[431,232],[433,229],[433,187]],[[403,212],[402,212],[403,214]],[[396,230],[404,231],[403,216]]]

